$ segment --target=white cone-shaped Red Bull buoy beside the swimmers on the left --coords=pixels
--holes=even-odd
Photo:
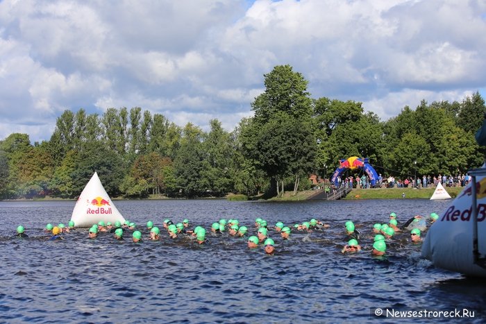
[[[98,174],[95,172],[91,180],[87,182],[85,189],[74,206],[71,220],[75,227],[90,227],[93,224],[103,222],[115,223],[125,221],[117,207],[113,204],[105,188],[101,185]]]

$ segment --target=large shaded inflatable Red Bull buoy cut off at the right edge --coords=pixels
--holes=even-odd
[[[486,268],[474,263],[474,211],[472,182],[465,187],[437,221],[430,226],[422,257],[439,267],[486,278]],[[486,177],[476,177],[478,252],[486,254]]]

